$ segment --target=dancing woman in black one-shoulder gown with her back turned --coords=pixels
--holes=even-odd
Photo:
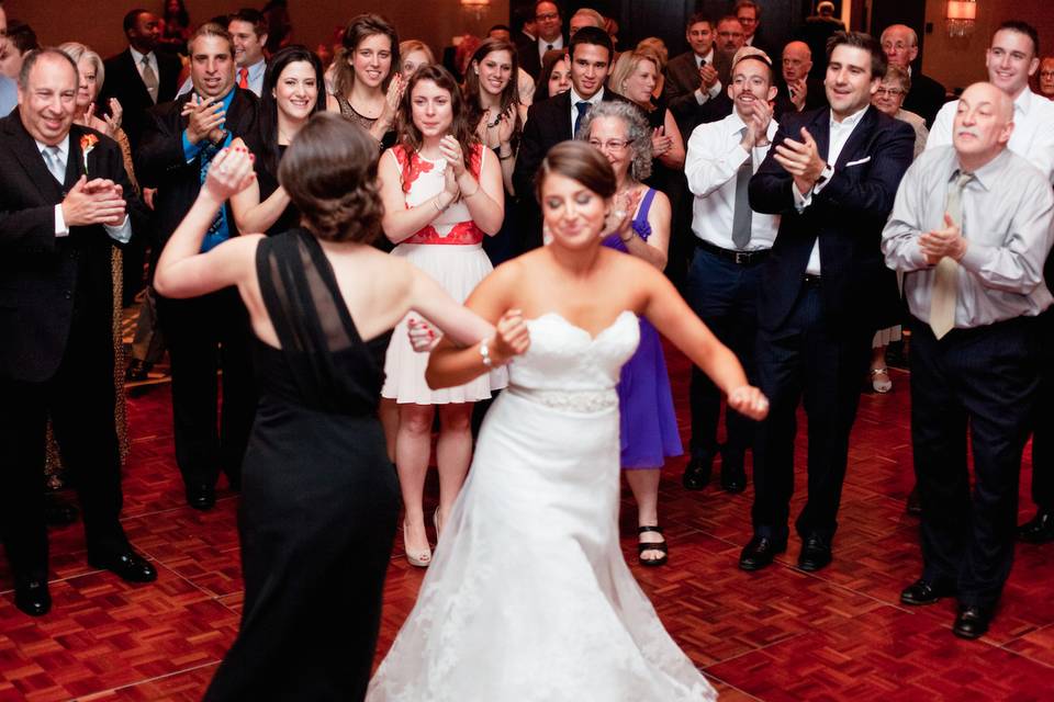
[[[237,285],[256,335],[260,404],[238,519],[245,604],[205,700],[360,700],[399,514],[377,420],[388,339],[411,309],[464,341],[493,328],[370,246],[382,206],[363,129],[315,115],[278,176],[303,228],[199,253],[224,201],[255,178],[244,147],[225,149],[155,275],[166,297]]]

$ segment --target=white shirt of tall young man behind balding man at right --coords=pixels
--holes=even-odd
[[[926,148],[952,145],[958,101],[945,103],[933,120]],[[1013,132],[1008,148],[1023,156],[1054,183],[1054,102],[1025,88],[1013,101]]]

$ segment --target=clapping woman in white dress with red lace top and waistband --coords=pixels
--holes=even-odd
[[[384,234],[405,257],[435,278],[458,302],[491,272],[484,236],[505,215],[497,158],[473,134],[453,77],[424,66],[411,77],[397,117],[399,143],[380,162]],[[439,508],[436,532],[453,506],[472,458],[472,403],[505,386],[497,370],[466,385],[439,390],[425,383],[428,356],[415,352],[406,335],[410,317],[392,335],[381,396],[399,403],[395,465],[403,492],[406,558],[427,566],[431,550],[425,532],[422,495],[431,452],[431,427],[439,407]]]

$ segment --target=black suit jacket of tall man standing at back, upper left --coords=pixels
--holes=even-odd
[[[176,99],[182,65],[179,58],[165,52],[156,50],[154,55],[157,56],[158,69],[157,103],[161,104]],[[139,135],[148,121],[146,113],[154,107],[154,101],[150,100],[150,93],[143,83],[139,69],[135,65],[135,59],[132,58],[131,48],[111,56],[103,64],[106,69],[106,79],[100,91],[99,109],[109,112],[110,98],[117,99],[124,110],[122,126],[124,133],[128,135],[128,143],[134,152],[139,145]]]

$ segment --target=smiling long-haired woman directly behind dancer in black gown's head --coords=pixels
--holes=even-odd
[[[403,94],[395,27],[379,14],[352,18],[333,65],[326,109],[367,129],[381,148],[392,146]]]

